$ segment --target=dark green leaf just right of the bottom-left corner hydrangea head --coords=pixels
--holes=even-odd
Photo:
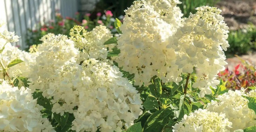
[[[44,98],[42,92],[34,92],[33,98],[37,98],[37,104],[51,111],[51,103],[47,98]]]

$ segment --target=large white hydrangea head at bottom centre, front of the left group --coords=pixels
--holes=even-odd
[[[129,127],[142,114],[140,94],[116,66],[95,59],[83,64],[82,81],[77,85],[78,109],[72,130],[116,131]]]

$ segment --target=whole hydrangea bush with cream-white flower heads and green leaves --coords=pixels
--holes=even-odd
[[[177,4],[135,1],[115,21],[120,37],[74,26],[30,53],[1,31],[0,131],[256,131],[256,91],[217,79],[229,46],[221,10],[182,18]]]

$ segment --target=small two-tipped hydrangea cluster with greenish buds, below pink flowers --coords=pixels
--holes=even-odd
[[[89,58],[105,59],[108,50],[104,42],[113,37],[111,31],[102,25],[96,26],[90,32],[87,32],[83,26],[74,26],[70,31],[70,36],[76,48],[79,48],[79,61]]]

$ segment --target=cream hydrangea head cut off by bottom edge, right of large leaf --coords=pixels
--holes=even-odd
[[[184,115],[179,123],[173,126],[173,132],[230,132],[232,123],[225,114],[198,109],[188,116]]]

